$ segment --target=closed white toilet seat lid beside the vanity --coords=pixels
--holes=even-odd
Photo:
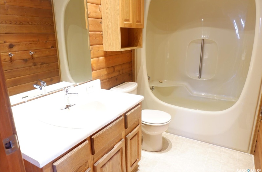
[[[171,121],[170,114],[152,109],[142,110],[142,123],[146,125],[166,125]]]

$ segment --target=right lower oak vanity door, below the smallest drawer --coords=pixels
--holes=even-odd
[[[131,172],[141,159],[141,125],[125,136],[126,172]]]

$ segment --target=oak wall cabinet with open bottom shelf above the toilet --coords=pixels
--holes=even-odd
[[[143,0],[101,0],[104,51],[142,48]]]

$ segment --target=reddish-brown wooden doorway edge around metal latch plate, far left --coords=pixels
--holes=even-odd
[[[17,143],[18,150],[8,155],[5,152],[5,145],[3,143],[3,140],[12,135],[17,135],[17,133],[14,125],[13,113],[6,87],[5,75],[2,68],[2,61],[0,64],[0,71],[0,171],[25,172],[24,162],[19,148],[19,143]]]

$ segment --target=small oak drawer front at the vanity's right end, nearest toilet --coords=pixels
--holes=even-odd
[[[137,105],[131,111],[125,114],[125,133],[133,131],[139,125],[141,119],[141,105]]]

